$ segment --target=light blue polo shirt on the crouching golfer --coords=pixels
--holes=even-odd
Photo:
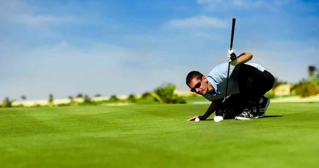
[[[260,71],[265,70],[265,68],[263,68],[261,65],[256,64],[256,63],[245,63],[245,64],[256,67]],[[237,76],[235,73],[233,73],[234,68],[235,68],[235,66],[230,65],[227,96],[239,93]],[[217,65],[206,76],[207,80],[212,84],[212,86],[214,87],[214,90],[215,90],[215,92],[206,93],[204,95],[204,97],[207,100],[213,101],[213,100],[225,98],[226,84],[227,84],[227,73],[228,73],[228,62]]]

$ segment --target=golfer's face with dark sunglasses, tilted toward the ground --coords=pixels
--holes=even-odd
[[[205,95],[208,91],[207,78],[203,76],[201,79],[193,78],[188,84],[190,91],[199,95]]]

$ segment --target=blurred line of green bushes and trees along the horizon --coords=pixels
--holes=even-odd
[[[287,84],[285,81],[280,81],[278,78],[275,78],[275,83],[272,88],[272,91],[275,90],[281,84]],[[102,103],[156,103],[156,104],[184,104],[186,101],[182,96],[175,94],[176,85],[172,83],[165,83],[155,88],[152,92],[145,92],[141,95],[141,97],[137,98],[136,95],[130,94],[127,99],[119,99],[116,95],[111,95],[108,100],[100,100],[93,101],[87,94],[83,95],[82,93],[78,93],[75,97],[69,96],[70,103],[61,104],[58,106],[77,106],[77,105],[94,105],[94,104],[102,104]],[[301,79],[298,83],[292,84],[290,88],[290,92],[294,92],[295,95],[300,97],[308,97],[319,94],[319,69],[313,65],[308,66],[308,78]],[[271,98],[273,95],[269,95]],[[95,94],[94,97],[101,97],[101,94]],[[74,100],[74,98],[82,98],[83,102],[79,103]],[[21,95],[21,100],[27,100],[26,95]],[[12,102],[16,100],[10,100],[9,97],[6,97],[0,107],[12,107]],[[40,105],[34,105],[35,107],[39,107]],[[49,94],[48,98],[48,106],[54,106],[54,96],[53,94]],[[22,107],[22,105],[19,105]]]

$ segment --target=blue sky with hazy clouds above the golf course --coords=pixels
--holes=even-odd
[[[138,94],[172,82],[189,90],[233,49],[274,76],[319,66],[319,3],[297,0],[0,0],[0,98]]]

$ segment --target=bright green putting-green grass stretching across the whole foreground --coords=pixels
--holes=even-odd
[[[250,121],[185,121],[207,107],[2,108],[1,167],[319,166],[318,103],[272,103],[270,117]]]

